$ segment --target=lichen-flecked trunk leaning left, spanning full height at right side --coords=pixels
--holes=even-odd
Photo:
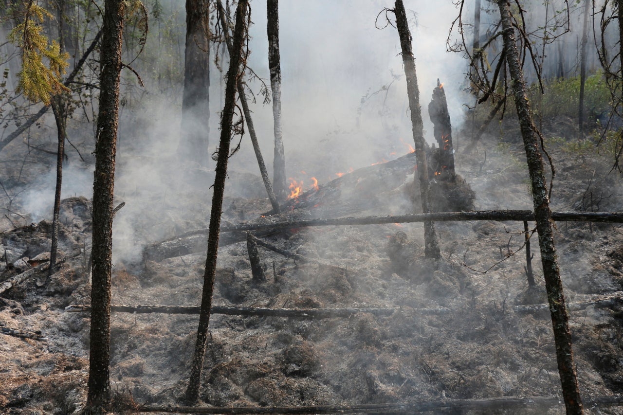
[[[511,75],[511,87],[515,96],[515,107],[520,122],[521,136],[528,158],[528,170],[532,184],[533,203],[535,207],[536,231],[539,235],[541,262],[548,295],[549,311],[554,329],[558,373],[563,388],[564,404],[568,414],[582,414],[583,406],[578,387],[578,375],[573,361],[571,332],[569,330],[569,314],[563,294],[563,282],[560,279],[556,247],[552,231],[551,210],[543,158],[539,150],[536,126],[530,115],[530,103],[526,95],[526,85],[521,71],[519,52],[515,41],[515,31],[511,23],[510,4],[508,0],[498,0],[502,19],[503,41]]]

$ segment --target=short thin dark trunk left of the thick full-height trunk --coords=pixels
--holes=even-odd
[[[63,158],[65,156],[65,134],[67,130],[67,113],[63,95],[52,97],[52,112],[56,122],[58,146],[56,156],[56,188],[54,191],[54,213],[52,214],[52,247],[50,249],[50,268],[48,277],[54,274],[57,251],[59,250],[59,214],[60,194],[63,184]]]

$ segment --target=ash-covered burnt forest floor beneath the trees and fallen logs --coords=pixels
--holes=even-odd
[[[570,123],[569,123],[570,125]],[[571,128],[571,127],[569,127]],[[561,126],[546,137],[565,135]],[[572,136],[573,131],[568,136]],[[525,156],[513,131],[504,140],[485,137],[470,155],[461,153],[467,133],[457,134],[457,170],[475,192],[476,209],[530,209]],[[594,150],[573,150],[553,140],[558,173],[554,210],[623,211],[621,177],[608,174],[611,160]],[[485,157],[486,153],[486,157]],[[240,176],[234,176],[235,181]],[[257,183],[256,177],[245,176]],[[404,190],[397,186],[395,192]],[[207,204],[187,217],[173,216],[176,197],[164,205],[161,237],[201,227]],[[253,219],[270,208],[255,186],[229,193],[224,219]],[[189,196],[188,196],[189,197]],[[131,196],[127,196],[131,204]],[[406,198],[406,196],[405,196]],[[389,206],[388,208],[390,208]],[[16,207],[17,209],[17,207]],[[90,202],[64,202],[62,251],[76,254],[50,280],[44,274],[2,293],[0,324],[40,332],[47,341],[0,337],[0,412],[73,414],[85,405],[88,315],[69,313],[89,302]],[[131,207],[124,208],[133,212]],[[119,213],[122,219],[124,209]],[[133,221],[145,221],[149,206]],[[23,212],[23,211],[22,211]],[[374,212],[360,212],[369,214]],[[26,219],[24,219],[26,220]],[[49,223],[5,226],[1,280],[28,266],[49,247]],[[213,315],[206,353],[202,405],[296,406],[397,403],[498,396],[559,394],[548,313],[516,313],[513,306],[545,302],[540,259],[533,252],[538,287],[525,275],[523,224],[437,224],[442,260],[424,259],[421,224],[317,227],[272,236],[268,242],[321,260],[295,262],[260,248],[266,282],[251,281],[244,243],[221,247],[214,305],[247,307],[391,307],[388,317],[288,320]],[[138,232],[140,234],[140,231]],[[623,290],[623,229],[618,224],[564,222],[556,229],[559,261],[570,302]],[[153,241],[152,241],[153,242]],[[81,252],[80,249],[83,249]],[[513,255],[513,252],[516,254]],[[205,253],[161,262],[118,260],[113,303],[197,305]],[[485,272],[486,270],[486,272]],[[427,315],[421,308],[448,308]],[[589,307],[571,313],[581,391],[586,398],[623,393],[623,310]],[[111,381],[121,400],[176,405],[189,376],[197,316],[115,313]],[[548,413],[563,413],[561,406]],[[623,408],[587,408],[622,414]],[[486,411],[484,413],[495,413]],[[543,409],[498,413],[545,413]]]

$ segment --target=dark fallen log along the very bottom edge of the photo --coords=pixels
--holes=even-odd
[[[530,408],[546,409],[562,406],[562,398],[558,396],[530,396],[518,398],[503,396],[489,399],[442,399],[439,401],[422,401],[414,403],[363,404],[363,405],[316,405],[316,406],[262,406],[251,408],[196,408],[190,406],[141,406],[139,413],[173,413],[173,414],[224,414],[224,415],[273,415],[273,414],[412,414],[430,411],[466,410],[493,411],[497,409]],[[587,408],[604,408],[622,406],[623,396],[594,396],[585,398]],[[136,411],[135,408],[131,408]]]

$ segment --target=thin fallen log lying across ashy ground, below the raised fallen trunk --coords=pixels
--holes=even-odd
[[[623,291],[592,297],[583,302],[568,304],[569,311],[581,311],[586,308],[608,308],[623,303]],[[538,313],[548,310],[548,304],[515,305],[510,307],[516,313]],[[88,304],[68,305],[66,312],[90,312]],[[357,313],[371,313],[377,316],[388,316],[394,312],[419,313],[422,315],[444,315],[451,313],[464,313],[459,308],[266,308],[266,307],[221,307],[211,308],[211,314],[262,316],[262,317],[288,317],[288,318],[343,318]],[[110,311],[120,313],[164,313],[164,314],[198,314],[199,307],[176,306],[176,305],[111,305]]]

